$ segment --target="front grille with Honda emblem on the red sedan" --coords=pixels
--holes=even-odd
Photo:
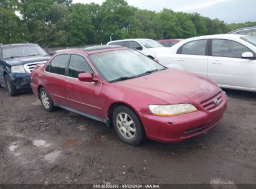
[[[207,111],[212,111],[214,108],[219,106],[220,103],[224,100],[224,96],[222,95],[222,91],[215,94],[211,98],[208,98],[201,102],[202,108],[206,109]]]

